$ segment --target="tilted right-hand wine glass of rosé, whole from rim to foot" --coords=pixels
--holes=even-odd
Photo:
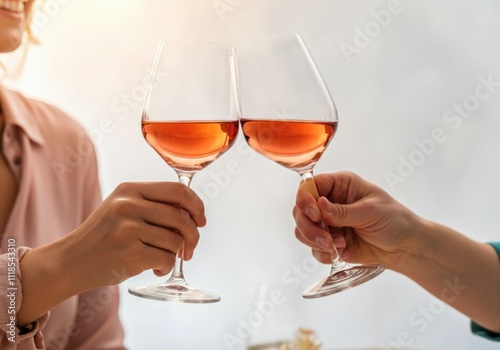
[[[338,126],[335,104],[299,34],[271,40],[238,54],[240,122],[250,147],[299,173],[319,198],[313,168]],[[328,227],[320,222],[328,230]],[[348,264],[336,248],[330,273],[303,292],[317,298],[379,275],[384,266]]]

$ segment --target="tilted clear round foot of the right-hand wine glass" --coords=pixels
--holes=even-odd
[[[377,277],[385,270],[382,264],[356,265],[345,264],[330,275],[302,293],[306,299],[320,298],[342,292]]]

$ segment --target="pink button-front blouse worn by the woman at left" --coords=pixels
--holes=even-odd
[[[24,253],[73,231],[101,193],[94,148],[78,123],[1,86],[0,103],[4,156],[19,182],[0,246],[0,349],[124,349],[116,286],[74,296],[29,329],[12,326],[23,302]]]

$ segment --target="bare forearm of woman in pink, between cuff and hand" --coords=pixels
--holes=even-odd
[[[64,256],[65,239],[33,249],[20,261],[23,299],[17,324],[23,327],[64,300],[83,291],[73,282],[70,259]]]

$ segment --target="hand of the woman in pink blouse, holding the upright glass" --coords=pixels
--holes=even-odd
[[[153,269],[169,273],[177,252],[191,259],[206,223],[201,199],[180,183],[124,183],[71,235],[66,251],[89,288]]]

